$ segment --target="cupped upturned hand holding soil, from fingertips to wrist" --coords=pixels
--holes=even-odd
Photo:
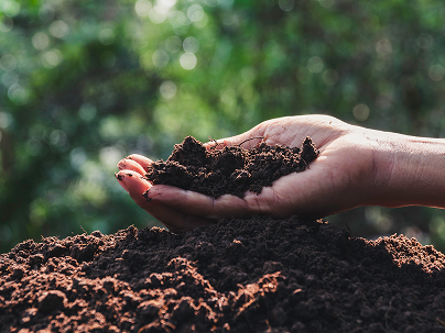
[[[120,171],[116,176],[138,206],[175,233],[215,223],[221,218],[297,214],[317,219],[367,204],[373,196],[377,173],[371,130],[327,115],[286,116],[218,140],[218,148],[238,145],[251,137],[263,138],[247,141],[242,147],[251,148],[261,141],[294,147],[301,146],[306,136],[312,137],[319,149],[319,156],[308,169],[281,177],[260,195],[247,191],[242,199],[231,195],[215,199],[173,186],[153,186],[143,178],[153,162],[141,155],[130,155],[119,162]]]

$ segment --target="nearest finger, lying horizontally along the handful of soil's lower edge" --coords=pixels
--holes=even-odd
[[[156,185],[150,189],[148,197],[175,211],[204,219],[242,218],[251,214],[245,200],[230,195],[214,199],[173,186]]]

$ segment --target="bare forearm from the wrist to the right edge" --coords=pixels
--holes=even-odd
[[[384,133],[375,136],[372,203],[445,208],[445,140]]]

